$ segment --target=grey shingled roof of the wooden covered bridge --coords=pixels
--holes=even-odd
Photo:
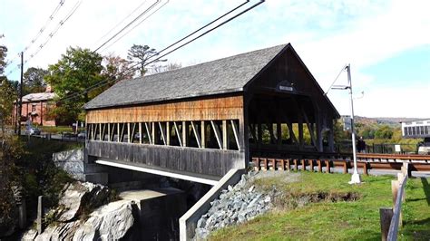
[[[169,72],[125,80],[84,105],[86,110],[212,94],[241,92],[271,60],[290,44],[200,63]]]

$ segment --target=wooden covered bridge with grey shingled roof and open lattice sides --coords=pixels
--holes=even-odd
[[[338,118],[289,43],[118,82],[84,108],[89,159],[209,184],[253,153],[333,151]]]

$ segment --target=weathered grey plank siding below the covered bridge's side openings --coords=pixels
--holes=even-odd
[[[197,149],[87,140],[88,155],[100,159],[128,161],[156,169],[180,170],[222,177],[230,169],[245,168],[238,150]]]

